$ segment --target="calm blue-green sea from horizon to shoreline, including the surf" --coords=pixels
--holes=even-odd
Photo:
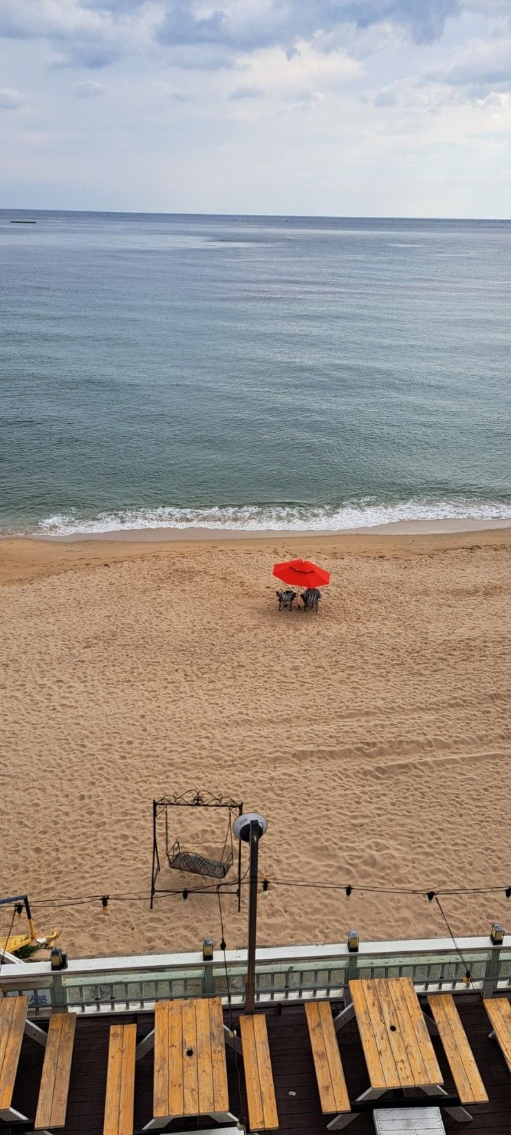
[[[0,212],[0,529],[511,518],[510,285],[511,222]]]

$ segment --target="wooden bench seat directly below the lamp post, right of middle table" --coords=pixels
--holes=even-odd
[[[279,1126],[273,1086],[266,1018],[254,1014],[239,1018],[247,1090],[248,1120],[253,1130],[275,1130]]]

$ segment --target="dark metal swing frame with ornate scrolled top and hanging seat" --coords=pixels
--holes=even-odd
[[[184,849],[178,839],[172,839],[172,813],[170,808],[220,808],[227,813],[227,830],[223,839],[223,847],[218,859],[208,858],[199,851]],[[235,848],[232,839],[232,823],[237,816],[241,816],[242,804],[231,800],[229,797],[215,796],[212,792],[189,790],[181,794],[172,793],[163,796],[160,800],[153,800],[153,866],[151,873],[151,909],[155,894],[173,894],[182,892],[186,897],[190,891],[206,894],[215,893],[215,888],[211,884],[188,888],[156,888],[156,878],[161,871],[160,842],[162,842],[164,827],[165,858],[172,871],[181,871],[187,874],[206,876],[210,878],[223,880],[229,874],[235,861]],[[238,910],[241,902],[241,843],[238,841],[237,856],[237,880],[232,891],[227,893],[238,896]],[[225,884],[224,884],[225,885]],[[225,893],[225,891],[223,892]]]

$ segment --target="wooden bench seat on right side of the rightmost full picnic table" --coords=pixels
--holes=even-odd
[[[432,1010],[461,1103],[487,1103],[488,1096],[451,993],[431,993]]]

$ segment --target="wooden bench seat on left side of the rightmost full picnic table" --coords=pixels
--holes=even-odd
[[[335,1026],[329,1001],[308,1001],[305,1006],[308,1035],[323,1115],[350,1111],[348,1088],[339,1052]]]

